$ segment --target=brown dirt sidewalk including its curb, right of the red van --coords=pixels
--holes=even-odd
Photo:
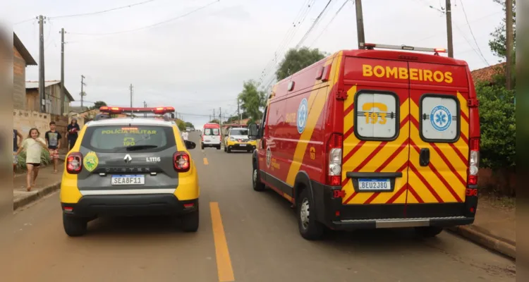
[[[513,201],[482,196],[478,201],[474,223],[449,229],[516,259],[516,207]]]

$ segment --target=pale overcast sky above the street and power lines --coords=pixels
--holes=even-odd
[[[46,80],[61,78],[59,31],[65,28],[65,81],[78,101],[73,105],[80,105],[81,75],[86,78],[88,105],[102,100],[128,106],[132,83],[134,106],[144,101],[148,106],[174,106],[185,121],[198,127],[213,109],[217,115],[219,108],[223,114],[235,114],[243,81],[260,80],[267,65],[265,73],[273,75],[274,54],[280,61],[288,47],[295,47],[327,4],[327,0],[152,0],[107,13],[59,18],[145,1],[3,0],[2,6],[8,12],[3,17],[19,23],[13,29],[37,61],[38,23],[32,18],[49,17],[44,25]],[[335,17],[344,1],[331,2],[303,45],[329,53],[358,46],[353,1]],[[168,21],[212,2],[216,3]],[[446,47],[442,5],[440,0],[363,1],[366,42]],[[466,60],[471,69],[497,63],[488,40],[504,17],[501,6],[492,0],[452,0],[452,5],[454,56]],[[136,31],[123,32],[128,30]],[[109,32],[118,33],[101,35]],[[26,79],[38,79],[37,66],[27,68]]]

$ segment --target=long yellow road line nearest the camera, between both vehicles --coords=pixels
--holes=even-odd
[[[224,226],[222,226],[219,203],[210,202],[209,209],[211,209],[213,239],[215,243],[215,253],[217,255],[217,272],[219,274],[219,281],[235,281],[233,268],[231,267],[228,243],[226,242],[226,235],[224,234]]]

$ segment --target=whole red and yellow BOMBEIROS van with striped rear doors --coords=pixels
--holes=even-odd
[[[262,127],[249,128],[254,190],[292,202],[309,240],[324,226],[432,237],[473,223],[480,124],[467,63],[444,49],[363,47],[273,87]]]

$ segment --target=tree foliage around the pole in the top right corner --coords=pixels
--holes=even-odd
[[[492,0],[496,2],[497,4],[501,4],[503,6],[504,15],[506,12],[506,5],[505,0]],[[513,1],[513,49],[516,50],[516,0]],[[492,35],[492,39],[489,41],[489,47],[492,53],[494,55],[500,57],[501,59],[506,59],[506,50],[507,50],[507,44],[506,44],[506,19],[501,21],[501,24],[496,27],[496,30],[492,32],[490,35]],[[513,51],[513,56],[516,57],[516,52]],[[513,58],[513,63],[516,61],[515,58]]]

